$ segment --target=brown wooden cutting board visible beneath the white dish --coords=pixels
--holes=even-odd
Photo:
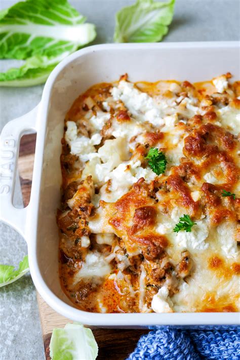
[[[18,170],[23,195],[24,206],[27,206],[30,199],[32,169],[34,162],[36,135],[24,135],[21,139]],[[66,317],[58,314],[43,300],[37,293],[37,303],[40,313],[41,326],[46,359],[50,360],[49,343],[54,328],[63,328],[71,322]],[[148,330],[126,330],[126,329],[101,329],[91,327],[98,343],[98,359],[102,360],[123,360],[135,348],[139,337],[148,333]]]

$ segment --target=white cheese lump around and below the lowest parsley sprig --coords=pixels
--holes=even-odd
[[[190,232],[180,230],[177,233],[176,243],[182,249],[196,249],[205,250],[209,247],[209,244],[205,243],[209,234],[209,228],[206,221],[196,221],[196,225],[193,225]]]

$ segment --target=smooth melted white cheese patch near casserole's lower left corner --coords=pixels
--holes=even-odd
[[[74,283],[77,283],[82,278],[104,277],[110,272],[111,266],[104,256],[97,251],[94,253],[89,251],[81,269],[74,275]]]

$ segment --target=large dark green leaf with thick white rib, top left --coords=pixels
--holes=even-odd
[[[26,60],[0,73],[0,86],[44,83],[59,61],[95,38],[85,21],[67,0],[26,0],[0,12],[0,58]]]

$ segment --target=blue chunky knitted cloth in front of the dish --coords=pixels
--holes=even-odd
[[[127,360],[240,359],[239,328],[234,330],[159,329],[142,336]]]

